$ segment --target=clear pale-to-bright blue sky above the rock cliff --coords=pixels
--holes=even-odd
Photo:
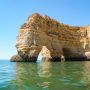
[[[36,12],[69,25],[90,24],[90,0],[1,0],[0,59],[16,54],[18,30]]]

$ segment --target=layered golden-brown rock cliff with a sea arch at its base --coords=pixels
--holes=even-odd
[[[65,60],[89,60],[90,26],[69,26],[35,13],[21,26],[16,48],[18,54],[11,61],[36,61],[40,53],[53,61],[60,61],[61,56]]]

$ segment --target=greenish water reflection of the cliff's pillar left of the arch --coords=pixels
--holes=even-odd
[[[30,90],[37,85],[37,69],[34,63],[16,63],[16,75],[12,80],[13,90]]]

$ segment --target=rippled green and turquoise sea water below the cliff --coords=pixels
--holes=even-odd
[[[0,90],[90,90],[90,62],[0,60]]]

